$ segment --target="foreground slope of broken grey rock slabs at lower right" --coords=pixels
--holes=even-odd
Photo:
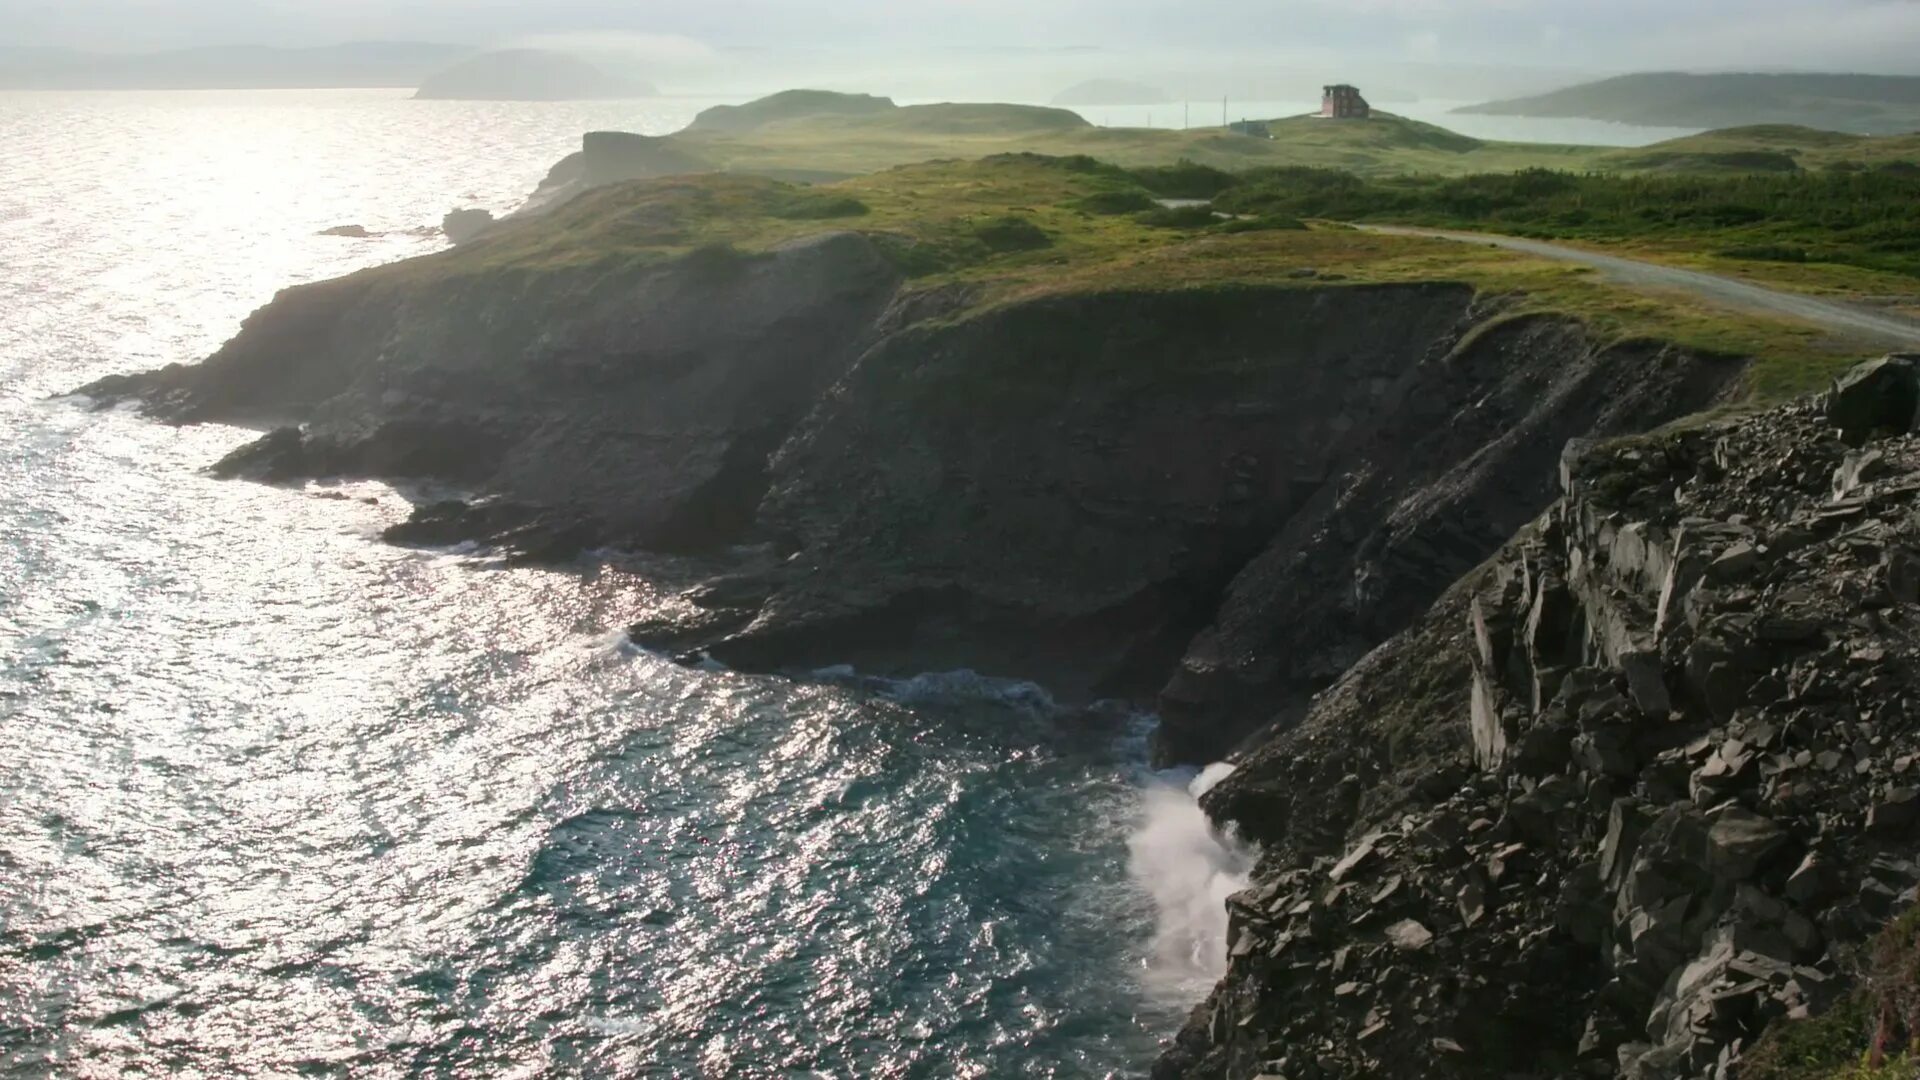
[[[1916,404],[1571,444],[1208,796],[1265,853],[1158,1076],[1732,1076],[1839,999],[1920,882]]]

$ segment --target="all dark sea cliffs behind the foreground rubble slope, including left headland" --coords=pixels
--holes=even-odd
[[[975,667],[1150,698],[1210,761],[1407,625],[1551,498],[1571,436],[1738,365],[1596,348],[1467,286],[900,292],[856,234],[634,271],[288,290],[204,365],[109,380],[300,425],[221,463],[486,502],[396,538],[707,552],[651,646],[755,669]],[[1171,678],[1169,678],[1171,676]]]

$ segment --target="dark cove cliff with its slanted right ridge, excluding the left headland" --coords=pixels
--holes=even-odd
[[[1513,480],[1532,427],[1678,415],[1736,373],[1498,321],[1452,284],[1068,296],[929,323],[883,336],[774,459],[756,521],[789,555],[695,632],[636,636],[756,669],[977,667],[1071,700],[1160,690],[1183,653],[1217,655],[1217,634],[1194,642],[1210,625],[1309,613],[1288,632],[1325,644],[1323,667],[1265,651],[1240,700],[1192,676],[1162,696],[1164,755],[1204,761],[1551,500],[1551,479]],[[1524,404],[1540,386],[1565,392]],[[1582,386],[1619,411],[1574,405]],[[1367,569],[1392,601],[1340,638]]]

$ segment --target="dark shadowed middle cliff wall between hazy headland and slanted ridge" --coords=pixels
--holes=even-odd
[[[885,338],[774,461],[793,557],[699,642],[1152,694],[1342,434],[1471,323],[1459,286],[1073,296]]]

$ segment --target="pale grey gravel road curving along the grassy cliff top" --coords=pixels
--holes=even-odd
[[[1830,331],[1874,338],[1895,348],[1920,348],[1920,321],[1907,319],[1903,315],[1870,311],[1866,307],[1853,307],[1851,304],[1837,304],[1834,300],[1818,300],[1797,292],[1747,284],[1730,277],[1665,267],[1659,263],[1644,263],[1640,259],[1622,259],[1619,256],[1603,256],[1599,252],[1586,252],[1580,248],[1563,248],[1561,244],[1546,244],[1542,240],[1496,236],[1492,233],[1450,233],[1446,229],[1407,229],[1400,225],[1361,225],[1359,229],[1390,236],[1430,236],[1438,240],[1459,240],[1463,244],[1492,244],[1496,248],[1507,248],[1546,259],[1590,265],[1620,284],[1678,288],[1703,300],[1728,307],[1740,307],[1743,311],[1788,315],[1807,323],[1816,323]]]

